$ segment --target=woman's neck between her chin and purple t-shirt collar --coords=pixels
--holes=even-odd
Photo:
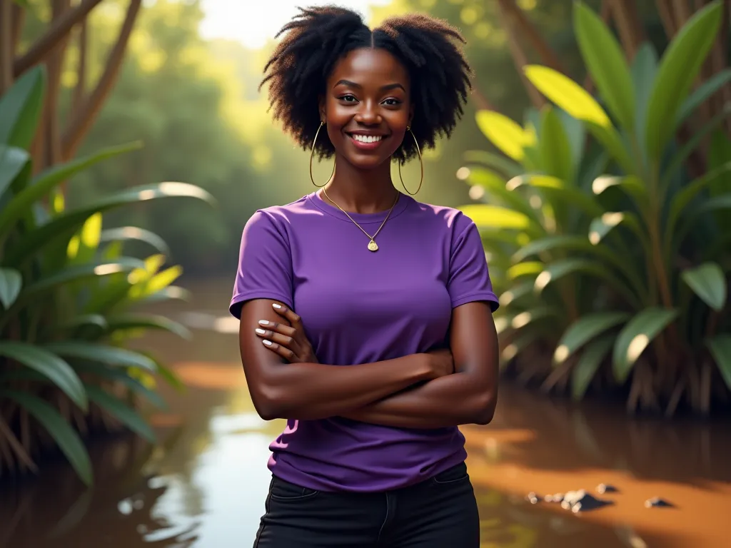
[[[379,213],[393,205],[398,191],[391,181],[390,161],[373,170],[359,170],[336,157],[335,174],[327,183],[327,197],[349,213]],[[327,197],[324,197],[327,199]],[[330,201],[332,201],[330,200]]]

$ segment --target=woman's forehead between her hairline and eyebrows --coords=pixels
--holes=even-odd
[[[406,87],[409,72],[391,53],[368,47],[347,53],[327,80],[330,85],[338,80],[350,80],[361,85],[401,83]]]

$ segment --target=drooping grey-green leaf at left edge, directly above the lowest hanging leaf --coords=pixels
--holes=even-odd
[[[83,411],[88,409],[86,392],[71,366],[53,351],[15,340],[0,341],[0,356],[14,359],[41,373],[61,389]]]

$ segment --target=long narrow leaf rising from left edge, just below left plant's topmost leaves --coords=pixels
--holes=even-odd
[[[86,170],[86,168],[98,163],[99,161],[133,151],[137,148],[140,148],[139,143],[106,148],[101,152],[91,156],[86,156],[86,158],[69,161],[67,164],[59,164],[58,166],[51,167],[49,170],[42,172],[34,178],[31,185],[27,186],[26,189],[23,189],[23,191],[15,196],[4,209],[0,210],[0,233],[7,230],[12,223],[17,221],[18,218],[20,218],[20,216],[22,216],[23,213],[25,213],[32,204],[34,204],[34,202],[45,197],[46,194],[64,180],[71,178],[78,172]],[[86,220],[86,217],[84,220]],[[46,226],[48,227],[48,225]]]

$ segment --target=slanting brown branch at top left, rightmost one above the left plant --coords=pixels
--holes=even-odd
[[[64,132],[64,138],[62,140],[64,159],[69,159],[74,156],[81,141],[86,136],[88,130],[91,129],[91,125],[94,123],[96,115],[102,108],[104,100],[114,87],[119,75],[119,69],[124,60],[124,52],[129,41],[129,36],[132,34],[132,29],[135,28],[135,20],[137,19],[137,14],[140,12],[141,4],[142,0],[129,0],[124,23],[122,23],[119,30],[117,42],[107,57],[104,72],[99,78],[99,82],[96,83],[94,91],[89,94],[84,104],[74,113],[66,132]]]

